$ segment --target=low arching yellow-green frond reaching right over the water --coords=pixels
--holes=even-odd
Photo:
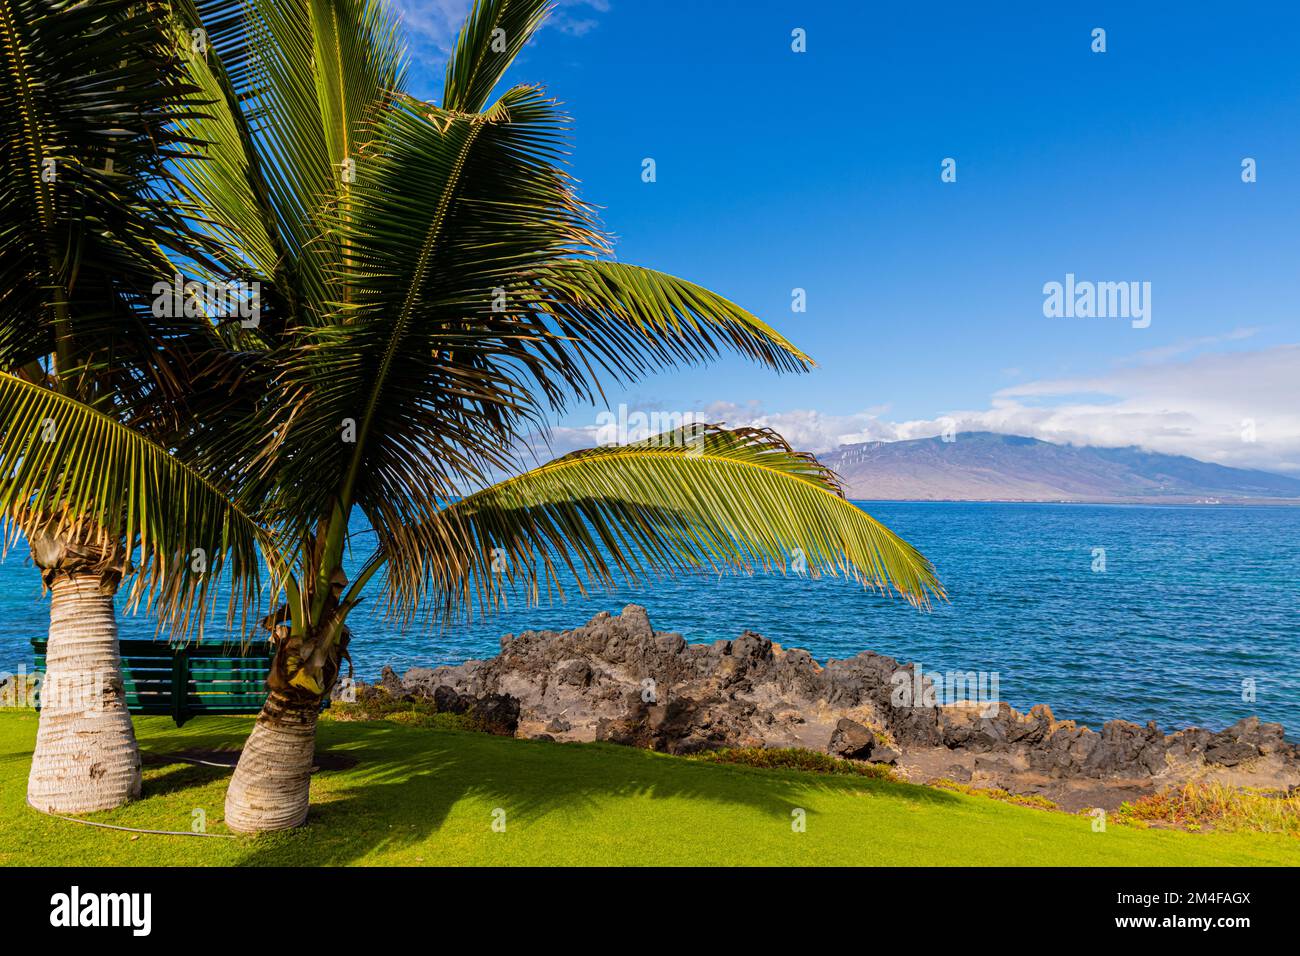
[[[844,499],[815,458],[768,429],[690,425],[633,445],[576,451],[447,505],[420,525],[380,533],[399,617],[494,607],[523,591],[563,596],[562,571],[588,585],[616,575],[699,567],[810,572],[928,606],[944,591],[911,545]]]

